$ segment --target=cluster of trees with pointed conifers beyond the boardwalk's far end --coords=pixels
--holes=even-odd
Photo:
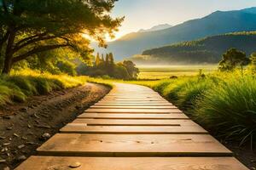
[[[79,75],[86,75],[90,77],[103,77],[103,78],[117,78],[117,79],[136,79],[139,70],[136,65],[130,61],[115,63],[113,54],[96,54],[96,59],[93,65],[79,65],[77,71]]]

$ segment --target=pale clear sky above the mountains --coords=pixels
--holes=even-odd
[[[116,38],[160,24],[175,26],[214,11],[256,7],[256,0],[119,0],[113,17],[125,16]]]

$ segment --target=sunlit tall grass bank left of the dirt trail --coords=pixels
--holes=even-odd
[[[86,79],[86,77],[51,75],[31,70],[12,72],[10,76],[0,76],[0,105],[23,102],[31,95],[73,88],[84,84]]]

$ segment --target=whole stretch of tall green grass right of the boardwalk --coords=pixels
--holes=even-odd
[[[197,122],[243,144],[256,136],[256,78],[238,73],[132,82],[147,85]],[[256,137],[255,137],[256,138]]]

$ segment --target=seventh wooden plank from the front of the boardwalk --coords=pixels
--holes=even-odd
[[[106,105],[92,105],[90,106],[91,109],[177,109],[176,106],[170,105],[170,106],[133,106],[133,105],[128,105],[128,106],[106,106]]]

